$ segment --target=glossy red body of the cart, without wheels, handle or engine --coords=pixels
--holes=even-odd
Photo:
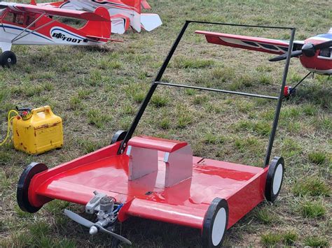
[[[130,145],[142,145],[148,140],[140,139],[132,138]],[[146,142],[146,147],[158,147],[158,138]],[[264,200],[268,167],[195,156],[193,176],[165,188],[162,158],[165,152],[181,145],[186,143],[170,140],[167,144],[160,140],[158,149],[163,152],[158,152],[158,171],[133,181],[128,180],[129,156],[117,154],[120,143],[104,147],[35,175],[29,187],[29,203],[41,207],[50,200],[60,199],[85,205],[97,190],[124,203],[118,216],[120,221],[136,216],[202,229],[205,213],[216,197],[228,202],[228,228]]]

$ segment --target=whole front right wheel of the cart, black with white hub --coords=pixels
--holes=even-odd
[[[228,226],[228,203],[221,198],[212,200],[204,217],[202,246],[221,247]]]

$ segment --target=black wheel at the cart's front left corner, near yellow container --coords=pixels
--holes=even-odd
[[[18,191],[16,195],[21,210],[34,213],[41,209],[41,207],[34,207],[29,203],[28,190],[32,177],[47,169],[47,166],[43,163],[30,163],[29,166],[23,170],[20,180],[18,181]]]

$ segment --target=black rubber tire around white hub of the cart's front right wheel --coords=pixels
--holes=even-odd
[[[217,240],[213,240],[213,228],[214,228],[214,221],[216,219],[219,210],[224,209],[226,212],[226,220],[224,221],[223,233],[221,240],[219,238]],[[225,239],[226,231],[228,226],[228,203],[226,200],[221,198],[214,198],[212,200],[211,205],[209,205],[209,209],[207,210],[204,221],[203,221],[203,228],[202,228],[202,247],[210,248],[210,247],[221,247],[223,244],[223,240]],[[217,242],[216,242],[217,241]],[[218,242],[219,241],[219,242]]]

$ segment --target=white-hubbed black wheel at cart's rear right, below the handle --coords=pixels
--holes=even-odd
[[[284,180],[284,159],[275,156],[268,168],[265,184],[265,198],[273,203],[282,189],[282,181]]]

